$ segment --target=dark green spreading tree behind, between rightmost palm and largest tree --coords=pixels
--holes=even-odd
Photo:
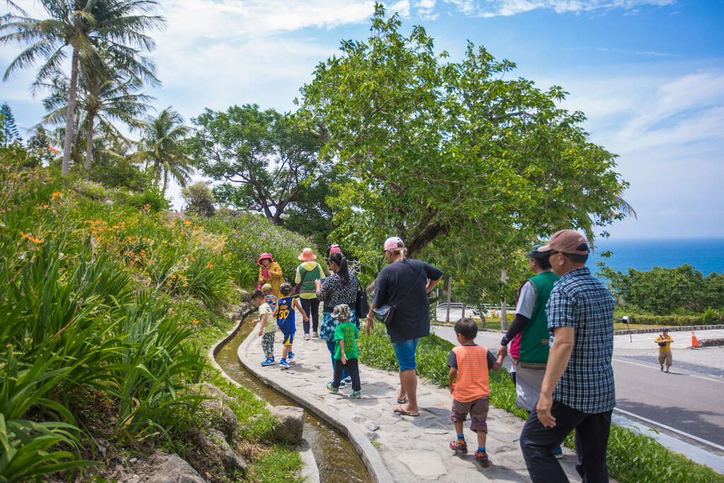
[[[332,163],[320,161],[319,137],[292,116],[245,104],[206,109],[193,123],[198,131],[190,147],[201,172],[224,181],[214,188],[217,201],[259,211],[275,224],[291,209],[317,210],[314,222],[327,215],[321,185],[329,182]]]

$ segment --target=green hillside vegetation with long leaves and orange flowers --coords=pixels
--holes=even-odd
[[[251,215],[169,217],[111,194],[0,163],[0,481],[103,471],[99,438],[119,460],[160,448],[232,481],[184,441],[204,417],[193,385],[217,377],[206,346],[232,327],[224,313],[235,285],[255,283],[259,251],[290,272],[308,240]],[[244,422],[266,409],[235,391],[251,479],[290,477],[298,455],[271,441],[268,414]]]

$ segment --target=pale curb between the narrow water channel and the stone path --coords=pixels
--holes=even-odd
[[[256,376],[257,379],[265,385],[282,393],[282,395],[285,395],[287,398],[294,400],[300,406],[305,408],[306,411],[310,411],[319,419],[329,424],[329,426],[334,427],[334,429],[337,429],[337,431],[344,434],[348,440],[350,440],[350,443],[357,451],[362,463],[374,481],[379,483],[395,482],[395,479],[392,478],[392,474],[390,474],[390,471],[387,469],[384,461],[382,461],[382,456],[379,454],[379,451],[374,448],[369,440],[369,437],[367,437],[366,433],[359,427],[358,424],[355,424],[352,419],[346,416],[337,414],[337,411],[335,411],[334,408],[327,406],[327,404],[322,403],[316,398],[311,398],[308,395],[293,392],[292,390],[279,385],[260,371],[253,361],[248,359],[246,352],[249,345],[253,342],[253,340],[255,340],[255,338],[254,332],[252,331],[239,346],[237,356],[244,368],[254,374],[254,376]]]

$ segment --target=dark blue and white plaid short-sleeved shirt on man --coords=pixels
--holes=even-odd
[[[613,295],[586,267],[555,282],[546,314],[550,330],[573,327],[573,352],[553,398],[584,413],[610,411],[616,405],[613,385]]]

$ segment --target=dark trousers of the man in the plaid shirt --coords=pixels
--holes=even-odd
[[[589,414],[553,400],[551,414],[555,427],[544,427],[535,411],[521,432],[521,450],[531,480],[545,483],[568,482],[552,451],[576,429],[576,471],[583,483],[607,483],[606,445],[611,411]]]

